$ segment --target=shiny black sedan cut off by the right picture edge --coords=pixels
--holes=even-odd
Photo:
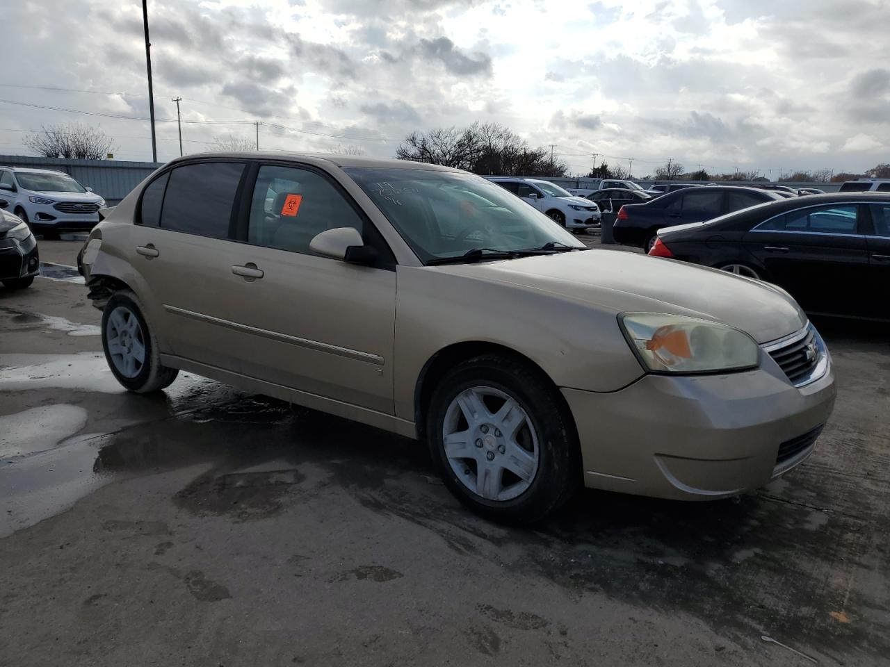
[[[659,231],[650,254],[780,285],[807,312],[890,320],[890,194],[783,199]]]

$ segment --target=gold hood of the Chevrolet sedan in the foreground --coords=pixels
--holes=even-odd
[[[717,269],[615,250],[538,255],[431,268],[463,277],[553,293],[619,312],[659,312],[723,322],[756,342],[806,323],[781,288]]]

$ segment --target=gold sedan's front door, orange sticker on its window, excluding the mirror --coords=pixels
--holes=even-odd
[[[217,259],[241,372],[393,414],[396,273],[383,239],[314,169],[262,165],[249,190],[246,242]],[[312,253],[313,237],[339,227],[359,229],[379,265]]]

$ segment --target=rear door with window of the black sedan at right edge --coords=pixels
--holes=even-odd
[[[744,244],[765,267],[765,278],[805,310],[855,315],[868,292],[862,289],[869,266],[864,215],[857,204],[806,206],[760,223]]]

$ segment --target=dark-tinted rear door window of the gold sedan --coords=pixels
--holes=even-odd
[[[202,237],[229,237],[231,206],[243,172],[243,164],[232,162],[176,167],[167,182],[161,227]]]

